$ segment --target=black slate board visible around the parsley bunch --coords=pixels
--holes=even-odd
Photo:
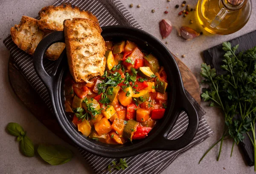
[[[234,38],[229,41],[232,46],[239,44],[238,52],[251,49],[253,46],[256,46],[256,31],[247,33],[242,35],[238,38]],[[222,49],[222,44],[209,48],[203,52],[204,59],[208,65],[212,68],[216,69],[216,73],[223,74],[224,70],[221,69],[222,58],[225,52]],[[252,133],[250,133],[252,137]],[[239,147],[244,153],[244,158],[246,159],[249,166],[254,165],[254,152],[253,152],[253,145],[250,142],[249,137],[247,134],[244,134],[243,142],[239,143]]]

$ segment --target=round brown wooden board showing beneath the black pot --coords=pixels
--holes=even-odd
[[[191,94],[191,96],[193,96],[193,98],[200,104],[200,87],[197,79],[195,78],[195,75],[182,61],[180,61],[180,59],[178,59],[176,56],[174,57],[180,68],[184,87]],[[53,113],[49,110],[49,108],[38,95],[38,93],[36,93],[36,91],[32,88],[32,86],[29,84],[29,82],[26,80],[26,78],[23,76],[17,66],[15,66],[15,62],[12,56],[10,56],[9,58],[8,75],[9,82],[14,93],[30,110],[30,112],[49,130],[51,130],[64,141],[73,145],[73,142],[70,141],[70,139],[62,131],[61,127],[58,125],[58,122],[55,119]]]

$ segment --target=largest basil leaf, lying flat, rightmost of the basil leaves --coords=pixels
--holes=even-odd
[[[69,162],[72,152],[61,145],[39,145],[38,154],[51,165],[61,165]]]

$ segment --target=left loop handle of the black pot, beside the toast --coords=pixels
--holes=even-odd
[[[55,62],[52,73],[47,73],[44,69],[43,59],[44,53],[52,44],[56,42],[65,42],[64,32],[52,32],[45,36],[38,46],[35,49],[33,64],[35,68],[35,72],[38,74],[39,78],[43,81],[44,85],[47,87],[48,91],[53,89],[53,84],[55,82],[55,75],[58,71],[58,67],[60,67],[62,59],[66,55],[66,49],[61,52],[58,60]]]

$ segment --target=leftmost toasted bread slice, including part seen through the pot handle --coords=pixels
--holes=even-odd
[[[38,28],[38,20],[23,16],[19,25],[11,28],[13,42],[26,53],[33,55],[39,42],[44,38],[45,32]],[[45,55],[50,60],[56,60],[65,48],[64,43],[52,44]]]

